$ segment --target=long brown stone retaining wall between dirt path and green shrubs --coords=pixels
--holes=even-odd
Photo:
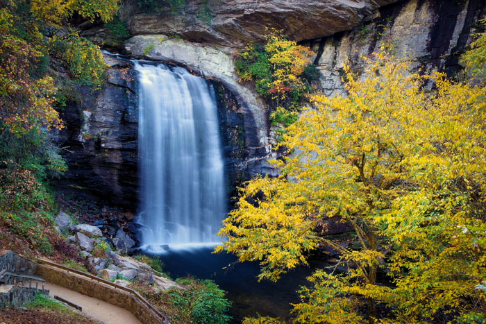
[[[142,304],[138,298],[126,291],[110,287],[108,284],[103,284],[90,278],[83,278],[81,275],[68,273],[45,264],[37,264],[36,275],[53,284],[58,284],[72,291],[77,291],[78,293],[83,293],[83,295],[124,308],[144,324],[161,323],[158,320],[158,316],[149,307]]]

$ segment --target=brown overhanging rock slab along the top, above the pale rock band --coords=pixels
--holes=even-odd
[[[357,26],[373,10],[397,0],[186,0],[183,10],[140,13],[126,1],[124,19],[133,35],[179,35],[190,42],[241,47],[262,40],[267,28],[291,40],[310,40]]]

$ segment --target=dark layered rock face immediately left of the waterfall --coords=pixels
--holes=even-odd
[[[65,148],[65,176],[55,182],[66,194],[94,201],[137,206],[138,109],[131,64],[107,58],[108,83],[96,92],[81,87],[81,98],[61,112],[66,128],[58,145]]]

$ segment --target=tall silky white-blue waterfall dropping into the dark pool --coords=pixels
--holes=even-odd
[[[215,245],[226,212],[215,92],[181,67],[139,74],[141,248]]]

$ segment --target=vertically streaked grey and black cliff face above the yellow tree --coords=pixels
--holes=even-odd
[[[342,67],[349,60],[360,71],[360,56],[387,44],[396,57],[408,58],[414,71],[460,71],[460,53],[472,40],[476,22],[484,15],[483,0],[399,1],[377,10],[374,18],[352,31],[305,42],[316,53],[324,94],[343,94]]]

